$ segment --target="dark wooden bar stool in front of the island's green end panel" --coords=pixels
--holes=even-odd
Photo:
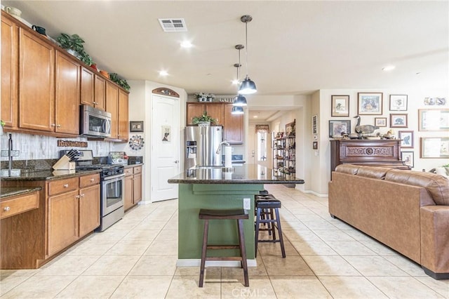
[[[199,287],[203,287],[204,268],[206,260],[240,260],[243,267],[245,286],[250,286],[248,279],[248,265],[246,263],[245,236],[243,235],[243,220],[248,219],[248,213],[243,209],[236,210],[206,210],[199,211],[199,219],[204,220],[203,246],[201,249],[201,267],[199,272]],[[209,220],[237,220],[239,244],[237,245],[208,245]],[[208,249],[239,249],[240,256],[206,256]]]

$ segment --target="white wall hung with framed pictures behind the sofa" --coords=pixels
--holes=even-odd
[[[443,97],[449,99],[448,90],[446,88],[406,88],[406,89],[382,89],[375,88],[369,90],[361,89],[323,89],[312,95],[312,115],[319,114],[319,159],[311,156],[311,169],[314,169],[314,180],[311,190],[320,194],[327,194],[328,181],[330,180],[330,138],[328,137],[328,121],[330,119],[347,119],[351,120],[351,132],[354,133],[357,113],[357,93],[360,92],[380,92],[383,93],[382,115],[363,115],[361,116],[361,124],[374,125],[375,117],[387,117],[386,128],[380,128],[378,131],[387,133],[390,124],[390,114],[406,113],[408,114],[408,128],[393,128],[396,133],[398,131],[414,131],[414,148],[403,149],[403,151],[413,151],[415,156],[414,171],[429,171],[431,168],[448,164],[449,159],[421,159],[420,158],[420,138],[448,136],[448,131],[423,132],[418,131],[418,109],[448,109],[445,106],[426,106],[424,98],[427,97]],[[331,111],[331,95],[349,95],[349,117],[330,117]],[[389,95],[408,95],[408,110],[404,112],[389,111]],[[311,119],[311,115],[309,116]],[[319,178],[326,178],[320,180]]]

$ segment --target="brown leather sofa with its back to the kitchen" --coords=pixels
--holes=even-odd
[[[449,279],[449,180],[443,175],[341,164],[329,213]]]

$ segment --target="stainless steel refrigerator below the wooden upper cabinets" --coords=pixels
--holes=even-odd
[[[187,126],[185,128],[185,170],[197,166],[220,166],[222,126]]]

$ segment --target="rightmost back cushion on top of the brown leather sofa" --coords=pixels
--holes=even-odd
[[[449,206],[449,180],[443,175],[391,169],[385,175],[385,180],[424,187],[431,194],[435,204]]]

